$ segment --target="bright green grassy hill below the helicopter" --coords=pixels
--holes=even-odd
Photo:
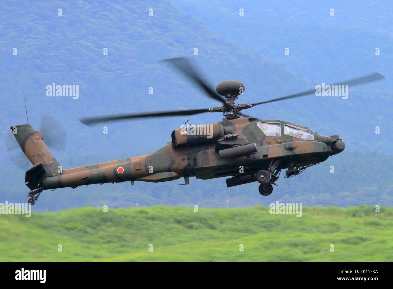
[[[1,261],[393,261],[393,208],[384,207],[305,207],[302,217],[268,207],[87,207],[0,218]]]

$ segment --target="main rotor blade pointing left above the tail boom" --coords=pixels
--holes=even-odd
[[[169,110],[169,111],[156,111],[156,112],[142,112],[134,114],[112,114],[107,116],[98,116],[94,118],[82,118],[80,121],[85,125],[92,125],[95,123],[107,122],[107,121],[118,121],[129,118],[149,118],[157,116],[183,116],[193,115],[202,112],[209,112],[209,109],[186,109],[186,110]]]

